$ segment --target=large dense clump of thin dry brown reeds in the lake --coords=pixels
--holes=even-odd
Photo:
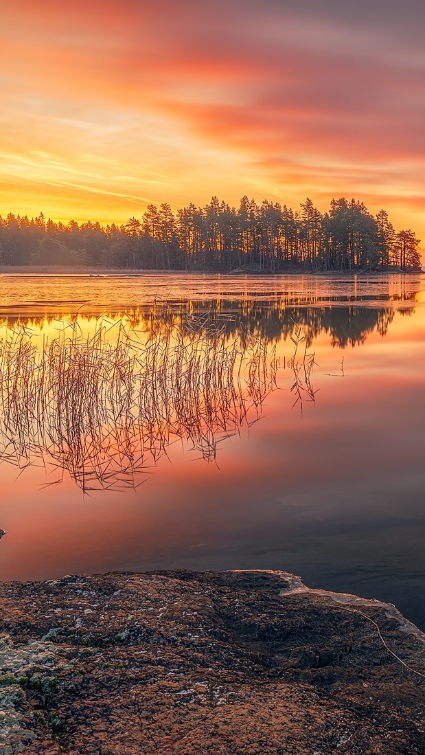
[[[0,331],[0,459],[51,466],[83,492],[135,487],[178,439],[214,460],[217,444],[250,427],[276,387],[273,347],[186,318],[146,330],[102,317],[36,342]],[[49,476],[51,479],[51,476]],[[49,479],[48,478],[48,479]]]

